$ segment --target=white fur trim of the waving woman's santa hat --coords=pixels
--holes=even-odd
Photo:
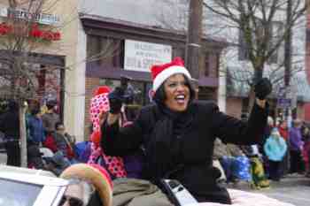
[[[167,80],[169,77],[176,73],[182,73],[189,79],[191,79],[190,72],[185,67],[180,65],[173,65],[168,67],[164,71],[159,72],[159,74],[153,80],[153,91],[155,92],[165,80]]]

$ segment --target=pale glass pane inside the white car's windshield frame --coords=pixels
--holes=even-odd
[[[32,206],[42,186],[0,179],[0,206]]]

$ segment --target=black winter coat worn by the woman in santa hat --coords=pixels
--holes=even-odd
[[[144,107],[131,126],[104,123],[101,147],[109,156],[126,156],[143,145],[146,179],[178,179],[199,202],[231,203],[227,190],[216,183],[219,172],[212,166],[213,141],[219,137],[234,144],[259,143],[267,126],[267,108],[254,104],[248,122],[222,113],[211,102],[191,103],[188,110],[190,115],[178,117],[190,118],[190,126],[181,134],[169,134],[170,123],[157,105]]]

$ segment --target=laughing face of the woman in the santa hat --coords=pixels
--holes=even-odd
[[[190,102],[190,88],[181,73],[174,74],[164,83],[166,106],[172,111],[185,111]]]

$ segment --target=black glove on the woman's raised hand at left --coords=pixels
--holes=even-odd
[[[117,87],[112,93],[108,95],[110,103],[110,112],[112,114],[119,114],[123,103],[124,89]]]

